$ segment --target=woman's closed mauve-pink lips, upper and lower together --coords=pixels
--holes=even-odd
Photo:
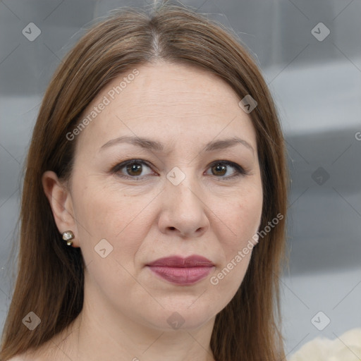
[[[180,256],[159,258],[147,264],[147,267],[161,279],[188,286],[207,277],[214,264],[205,257],[193,255],[185,258]]]

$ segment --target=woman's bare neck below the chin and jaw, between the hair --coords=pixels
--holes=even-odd
[[[99,310],[98,300],[84,302],[71,326],[54,338],[51,359],[214,361],[210,348],[214,319],[198,329],[162,330],[134,322],[111,307]]]

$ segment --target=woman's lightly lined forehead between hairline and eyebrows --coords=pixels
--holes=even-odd
[[[81,119],[91,121],[79,142],[99,148],[121,135],[161,137],[162,142],[186,137],[183,144],[242,135],[256,148],[252,121],[239,101],[224,80],[203,69],[171,63],[138,66],[111,80],[87,106]]]

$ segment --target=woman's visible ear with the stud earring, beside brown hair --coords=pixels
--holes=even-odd
[[[62,234],[65,231],[73,231],[75,238],[73,238],[72,246],[79,247],[78,228],[74,218],[71,192],[66,188],[66,185],[59,181],[58,176],[53,171],[44,172],[42,186],[49,200],[59,232]]]

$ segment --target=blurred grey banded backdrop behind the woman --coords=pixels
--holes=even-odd
[[[256,59],[288,147],[288,355],[361,326],[361,1],[190,0]],[[149,1],[0,1],[0,329],[12,292],[22,167],[51,75],[111,9]],[[15,250],[16,252],[16,250]]]

